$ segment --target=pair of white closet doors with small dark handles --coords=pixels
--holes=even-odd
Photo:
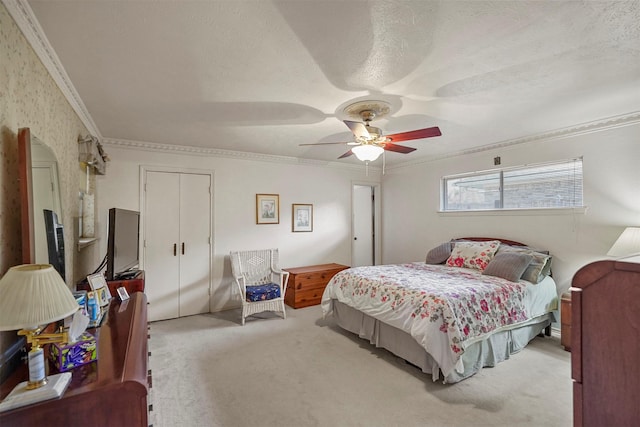
[[[147,171],[145,292],[149,320],[209,312],[211,176]]]

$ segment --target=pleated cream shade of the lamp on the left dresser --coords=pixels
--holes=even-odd
[[[0,280],[0,331],[36,329],[78,308],[66,283],[49,264],[17,265]]]

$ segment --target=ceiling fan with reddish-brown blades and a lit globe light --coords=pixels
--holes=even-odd
[[[359,104],[362,105],[362,104]],[[377,108],[376,108],[377,107]],[[349,107],[347,107],[349,108]],[[346,110],[345,110],[346,111]],[[431,138],[435,136],[440,136],[442,133],[437,126],[425,128],[425,129],[417,129],[408,132],[400,132],[395,133],[393,135],[384,135],[380,128],[371,126],[371,121],[388,113],[389,109],[386,106],[380,106],[378,104],[365,104],[362,109],[358,109],[354,111],[347,111],[351,115],[357,114],[362,118],[362,122],[354,122],[351,120],[344,120],[344,124],[351,129],[353,132],[353,136],[355,137],[355,141],[351,142],[317,142],[311,144],[300,144],[303,145],[335,145],[335,144],[346,144],[353,145],[349,151],[344,153],[342,156],[338,157],[338,159],[343,159],[345,157],[349,157],[352,154],[358,158],[358,160],[362,160],[365,162],[376,160],[380,154],[382,154],[385,150],[394,151],[396,153],[407,154],[415,151],[415,148],[405,147],[403,145],[397,145],[396,142],[401,141],[410,141],[413,139],[423,139],[423,138]],[[382,114],[381,114],[382,112]]]

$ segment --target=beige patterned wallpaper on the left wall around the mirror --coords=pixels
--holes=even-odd
[[[22,259],[17,183],[17,134],[21,127],[30,128],[57,157],[67,283],[75,283],[86,274],[74,268],[79,183],[85,181],[85,171],[78,163],[77,139],[88,131],[0,3],[0,276]]]

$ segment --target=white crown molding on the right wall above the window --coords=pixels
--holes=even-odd
[[[566,128],[560,128],[548,132],[529,135],[522,138],[508,139],[492,144],[483,145],[480,147],[470,148],[468,150],[460,150],[453,153],[447,153],[440,156],[423,157],[418,160],[404,162],[394,166],[387,166],[387,170],[401,169],[405,167],[420,165],[424,163],[430,163],[437,160],[448,159],[451,157],[464,156],[468,154],[481,153],[483,151],[496,150],[499,148],[512,147],[514,145],[527,144],[531,142],[547,142],[557,139],[571,138],[578,135],[586,135],[589,133],[602,132],[608,129],[615,129],[623,126],[630,126],[640,123],[640,111],[634,111],[632,113],[622,114],[619,116],[607,117],[600,120],[594,120],[591,122],[581,123]]]

